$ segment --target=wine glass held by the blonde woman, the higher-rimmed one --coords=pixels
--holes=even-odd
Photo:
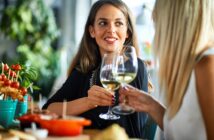
[[[115,57],[114,77],[124,87],[132,82],[138,70],[138,61],[135,48],[132,46],[124,47],[121,54]],[[126,105],[126,99],[118,106],[112,108],[115,114],[128,115],[134,113],[134,108]]]

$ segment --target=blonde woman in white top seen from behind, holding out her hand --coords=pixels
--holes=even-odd
[[[214,1],[157,0],[153,14],[165,106],[131,86],[120,98],[150,114],[166,140],[214,140]]]

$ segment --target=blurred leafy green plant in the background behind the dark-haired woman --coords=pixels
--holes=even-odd
[[[0,29],[5,37],[16,41],[16,55],[6,55],[5,62],[30,64],[38,72],[36,84],[48,96],[59,73],[59,54],[53,48],[59,36],[51,8],[43,0],[17,0],[5,7]]]

